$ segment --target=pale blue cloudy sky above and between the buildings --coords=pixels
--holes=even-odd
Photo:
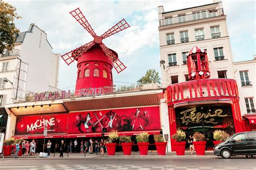
[[[160,73],[158,6],[165,11],[190,8],[213,3],[213,0],[169,0],[169,1],[71,1],[71,0],[5,0],[16,6],[22,19],[16,27],[27,31],[34,23],[47,33],[54,53],[63,55],[93,38],[70,15],[80,8],[97,35],[102,35],[114,24],[125,18],[130,28],[103,40],[103,43],[118,53],[127,66],[123,72],[113,71],[117,86],[136,83],[149,69]],[[255,1],[223,0],[224,13],[231,40],[234,62],[251,60],[255,55]],[[59,89],[74,90],[76,85],[76,63],[69,66],[60,59]]]

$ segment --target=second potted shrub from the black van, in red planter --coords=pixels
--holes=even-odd
[[[193,134],[193,138],[196,139],[196,141],[193,141],[193,145],[197,155],[205,155],[205,146],[206,146],[206,141],[204,141],[205,135],[199,132],[196,132]]]

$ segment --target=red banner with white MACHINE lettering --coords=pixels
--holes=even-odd
[[[68,114],[31,115],[17,117],[15,135],[43,134],[44,127],[48,133],[66,133]]]

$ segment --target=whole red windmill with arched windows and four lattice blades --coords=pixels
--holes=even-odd
[[[114,67],[119,73],[126,69],[126,66],[120,62],[117,53],[107,48],[102,43],[102,40],[129,28],[130,25],[126,23],[125,19],[122,19],[116,25],[112,26],[111,29],[103,33],[103,35],[97,36],[79,8],[69,13],[93,37],[90,43],[82,45],[61,56],[68,65],[77,60],[76,92],[90,87],[112,86],[112,68]]]

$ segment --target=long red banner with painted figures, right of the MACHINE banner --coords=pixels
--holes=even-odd
[[[160,130],[159,106],[69,113],[68,133]]]

